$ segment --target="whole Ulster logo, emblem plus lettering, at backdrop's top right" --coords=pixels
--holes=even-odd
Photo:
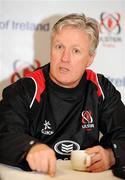
[[[102,12],[100,15],[100,42],[104,47],[115,47],[122,42],[121,15],[119,12]]]

